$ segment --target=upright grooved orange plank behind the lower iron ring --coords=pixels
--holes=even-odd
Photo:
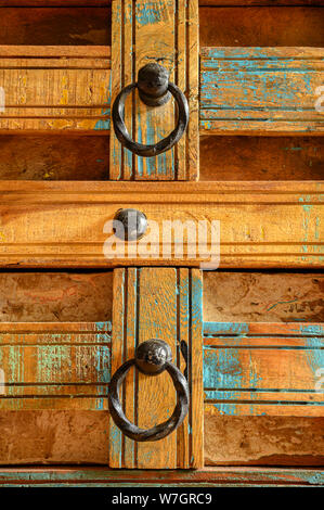
[[[203,466],[202,281],[197,270],[174,268],[116,269],[112,340],[112,373],[150,339],[168,342],[183,371],[180,340],[189,346],[190,411],[184,423],[165,439],[138,443],[111,423],[113,468],[198,468]],[[161,391],[163,388],[163,391]],[[126,380],[126,413],[148,429],[170,417],[176,394],[168,374],[147,378],[132,372]]]

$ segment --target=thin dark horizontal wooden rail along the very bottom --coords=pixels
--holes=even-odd
[[[205,468],[204,470],[109,470],[102,468],[28,468],[5,469],[0,472],[3,486],[319,486],[324,473],[316,469],[280,468]]]

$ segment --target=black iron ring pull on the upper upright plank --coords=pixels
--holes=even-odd
[[[133,141],[125,125],[125,101],[135,88],[139,89],[140,99],[148,106],[166,104],[171,95],[173,95],[178,106],[176,128],[168,137],[152,145]],[[189,105],[179,87],[169,81],[167,69],[159,64],[151,63],[139,71],[137,82],[128,85],[118,93],[114,101],[112,117],[116,137],[121,145],[138,156],[157,156],[171,149],[184,133],[189,123]]]

